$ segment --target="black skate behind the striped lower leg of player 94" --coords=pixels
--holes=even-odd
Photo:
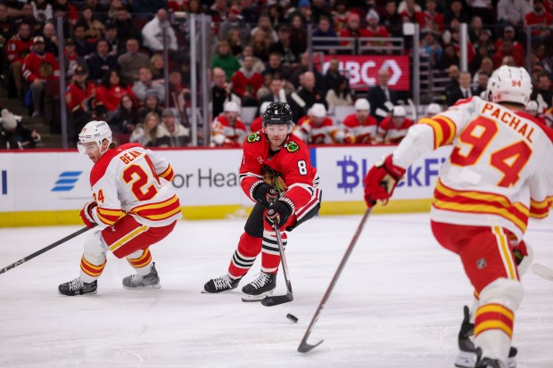
[[[470,311],[468,307],[463,307],[463,323],[461,323],[461,330],[458,334],[459,354],[455,359],[455,366],[460,368],[476,368],[480,365],[476,365],[478,361],[478,355],[473,341],[475,336],[475,324],[470,323]],[[508,368],[516,368],[516,348],[511,347],[508,353]],[[486,358],[487,359],[487,358]],[[482,365],[488,367],[488,365]],[[494,365],[490,365],[493,367]],[[498,365],[499,367],[499,365]]]

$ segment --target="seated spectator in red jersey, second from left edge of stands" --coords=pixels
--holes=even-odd
[[[33,38],[33,46],[23,60],[23,78],[30,83],[33,97],[33,117],[41,115],[41,106],[45,106],[45,123],[53,123],[54,99],[59,96],[60,66],[53,53],[45,52],[45,40],[42,36]],[[56,91],[56,87],[58,90]],[[58,133],[53,127],[53,133]]]

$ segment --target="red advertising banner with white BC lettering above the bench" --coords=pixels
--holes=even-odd
[[[390,70],[388,85],[398,91],[409,91],[410,73],[409,56],[375,56],[375,55],[325,55],[323,62],[323,75],[328,70],[330,60],[336,58],[340,61],[340,70],[345,70],[350,76],[350,86],[376,86],[378,83],[378,70]]]

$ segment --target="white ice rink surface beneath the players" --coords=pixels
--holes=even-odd
[[[127,262],[108,258],[98,294],[63,297],[77,277],[86,235],[0,274],[0,367],[453,367],[462,307],[472,288],[458,257],[432,237],[428,215],[369,217],[311,334],[325,342],[296,351],[360,216],[318,217],[289,234],[294,300],[243,303],[240,289],[201,294],[225,274],[243,219],[183,221],[152,248],[160,290],[124,290]],[[527,241],[553,266],[553,220],[535,221]],[[0,266],[78,230],[0,229]],[[553,367],[553,282],[530,271],[516,314],[519,368]],[[276,294],[285,293],[279,275]],[[285,315],[299,318],[292,323]]]

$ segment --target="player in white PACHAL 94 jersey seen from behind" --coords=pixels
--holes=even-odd
[[[409,165],[427,151],[453,145],[433,194],[434,237],[458,254],[475,287],[474,363],[505,368],[523,287],[512,241],[529,217],[547,217],[553,202],[553,132],[524,106],[532,94],[523,68],[502,66],[488,82],[490,101],[461,100],[421,119],[391,155],[365,177],[365,199],[386,202]],[[384,189],[385,187],[385,189]]]

